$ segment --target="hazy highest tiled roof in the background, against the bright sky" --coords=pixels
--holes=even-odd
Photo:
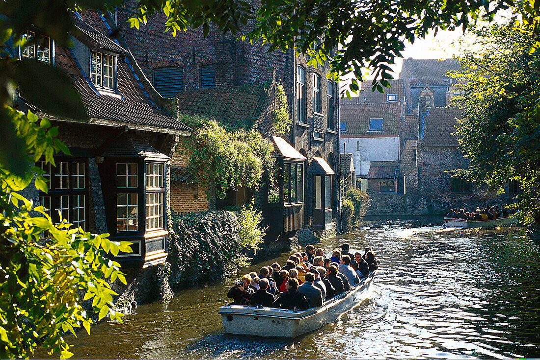
[[[449,86],[445,75],[449,70],[460,69],[460,62],[454,59],[405,59],[400,78],[409,81],[410,86]]]

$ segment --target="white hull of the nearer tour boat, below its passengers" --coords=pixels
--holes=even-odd
[[[371,272],[349,291],[307,310],[285,310],[247,305],[219,308],[227,334],[263,337],[296,337],[338,320],[341,314],[357,306],[367,293],[377,271]]]

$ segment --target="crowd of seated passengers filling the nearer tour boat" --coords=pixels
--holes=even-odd
[[[370,272],[379,268],[380,261],[370,247],[364,254],[349,253],[349,244],[335,249],[327,258],[322,248],[306,246],[296,252],[281,267],[277,262],[263,266],[259,274],[242,276],[227,293],[233,305],[264,306],[287,310],[309,309],[350,288]]]

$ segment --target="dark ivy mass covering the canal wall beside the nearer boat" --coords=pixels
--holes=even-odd
[[[222,279],[238,267],[247,266],[246,251],[260,244],[260,213],[243,207],[237,212],[205,211],[173,215],[167,261],[169,281],[175,285],[195,285]]]

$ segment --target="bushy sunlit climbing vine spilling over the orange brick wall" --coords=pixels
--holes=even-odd
[[[185,146],[191,152],[187,170],[194,180],[225,197],[228,188],[258,189],[265,171],[273,171],[272,144],[255,129],[233,128],[217,120],[199,116],[180,116],[195,131]]]

